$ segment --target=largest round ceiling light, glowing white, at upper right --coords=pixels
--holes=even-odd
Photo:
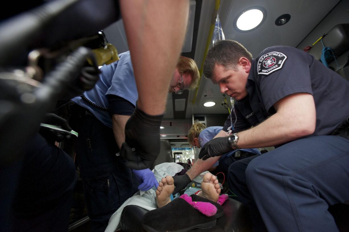
[[[267,10],[254,6],[243,10],[234,20],[234,28],[239,32],[250,32],[257,29],[265,21]]]

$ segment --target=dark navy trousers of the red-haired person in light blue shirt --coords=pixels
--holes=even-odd
[[[79,133],[75,152],[83,180],[91,231],[104,231],[110,216],[132,196],[131,169],[116,156],[113,130],[89,111],[77,106],[69,125]]]

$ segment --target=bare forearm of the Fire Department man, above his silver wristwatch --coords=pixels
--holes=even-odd
[[[311,94],[288,95],[277,101],[274,108],[276,114],[251,129],[237,133],[240,148],[275,146],[314,132],[316,111]]]

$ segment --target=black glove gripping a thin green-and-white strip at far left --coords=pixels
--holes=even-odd
[[[66,119],[59,117],[56,114],[48,113],[45,115],[43,123],[60,126],[66,131],[71,131],[72,128],[68,125]],[[39,133],[49,142],[53,144],[54,141],[61,142],[65,139],[72,138],[70,134],[65,133],[64,131],[53,130],[44,126],[40,127]]]

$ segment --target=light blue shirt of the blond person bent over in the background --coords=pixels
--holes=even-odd
[[[208,141],[213,139],[216,136],[216,134],[218,134],[222,129],[223,129],[223,126],[210,126],[202,130],[199,134],[200,147],[203,147]],[[257,148],[244,148],[244,149],[237,149],[237,150],[254,153],[256,155],[261,154]],[[231,157],[237,150],[232,150],[231,152],[223,154],[219,160]],[[219,165],[219,160],[213,165],[213,167]]]

